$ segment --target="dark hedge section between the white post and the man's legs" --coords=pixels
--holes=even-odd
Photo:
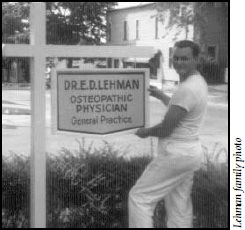
[[[150,158],[128,161],[117,154],[106,144],[92,154],[63,149],[49,158],[49,227],[127,227],[127,195]]]

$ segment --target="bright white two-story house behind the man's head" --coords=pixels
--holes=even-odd
[[[153,79],[151,82],[156,84],[162,84],[163,81],[176,82],[179,77],[172,67],[170,57],[175,41],[186,39],[186,32],[184,29],[177,30],[175,26],[167,29],[169,19],[168,9],[164,20],[159,17],[156,3],[110,10],[107,14],[107,45],[153,46],[156,52],[159,50],[162,53],[163,73],[159,71],[157,77],[151,76]],[[187,39],[193,40],[193,37],[193,26],[190,26]],[[148,67],[149,59],[136,60],[138,65],[136,67]],[[123,60],[123,63],[127,65],[130,61]]]

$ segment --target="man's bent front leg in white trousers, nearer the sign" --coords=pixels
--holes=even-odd
[[[157,202],[181,184],[195,164],[196,159],[188,157],[153,160],[129,193],[129,228],[153,228]]]

